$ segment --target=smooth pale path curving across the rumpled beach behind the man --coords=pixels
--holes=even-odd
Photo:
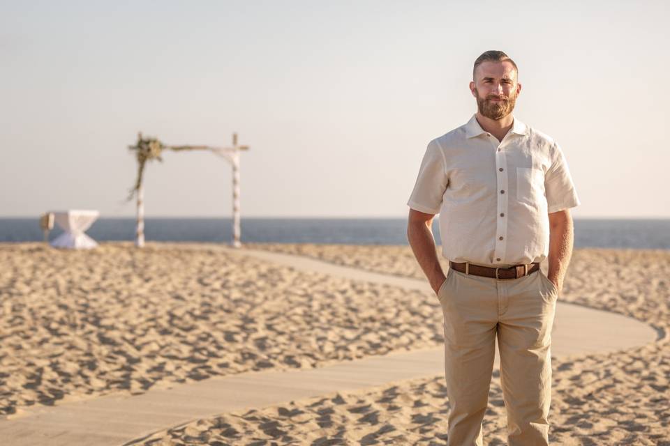
[[[179,246],[200,249],[198,245]],[[282,263],[298,270],[432,293],[428,284],[418,279],[366,272],[291,254],[228,247],[221,249]],[[565,302],[558,303],[556,312],[552,334],[554,356],[563,358],[619,351],[657,339],[653,328],[618,314]],[[134,439],[144,438],[170,426],[233,410],[443,374],[442,364],[442,348],[431,348],[367,357],[319,369],[253,371],[169,389],[149,390],[133,397],[110,395],[51,408],[42,406],[0,421],[0,438],[3,438],[3,444],[11,446],[129,445]],[[498,367],[497,354],[495,367]]]

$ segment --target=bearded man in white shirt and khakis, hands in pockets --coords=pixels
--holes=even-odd
[[[496,336],[509,445],[548,445],[551,327],[579,199],[556,141],[512,115],[516,63],[487,51],[472,77],[477,113],[429,143],[408,201],[408,240],[444,315],[447,445],[482,445]]]

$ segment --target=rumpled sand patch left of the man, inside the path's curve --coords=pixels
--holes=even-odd
[[[221,249],[2,245],[0,295],[0,415],[441,339],[438,302],[419,291],[296,272]]]

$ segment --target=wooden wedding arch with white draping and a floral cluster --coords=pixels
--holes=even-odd
[[[232,246],[239,248],[240,227],[239,227],[239,153],[247,151],[248,146],[239,146],[237,144],[237,133],[232,134],[232,147],[211,147],[211,146],[168,146],[154,137],[142,137],[142,132],[137,133],[137,142],[134,146],[128,146],[131,151],[135,151],[137,158],[137,180],[135,186],[131,188],[128,195],[128,201],[133,197],[137,199],[137,220],[135,225],[135,246],[144,246],[144,185],[142,178],[144,167],[148,161],[158,160],[163,162],[161,154],[165,150],[171,151],[210,151],[228,160],[232,165]]]

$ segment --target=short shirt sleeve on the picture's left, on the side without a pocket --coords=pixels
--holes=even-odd
[[[433,139],[426,148],[414,190],[407,202],[410,208],[426,214],[440,213],[442,195],[449,183],[445,164],[442,148]]]

